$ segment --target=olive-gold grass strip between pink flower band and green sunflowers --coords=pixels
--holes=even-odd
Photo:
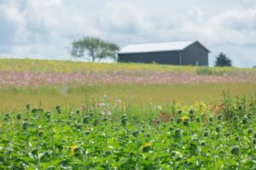
[[[22,108],[27,103],[52,109],[55,105],[80,107],[84,99],[101,99],[107,95],[113,102],[123,100],[131,105],[164,105],[176,100],[191,104],[195,100],[207,104],[218,103],[223,91],[232,95],[256,94],[255,83],[215,83],[215,84],[169,84],[169,85],[98,85],[78,87],[12,88],[0,91],[0,112]]]

